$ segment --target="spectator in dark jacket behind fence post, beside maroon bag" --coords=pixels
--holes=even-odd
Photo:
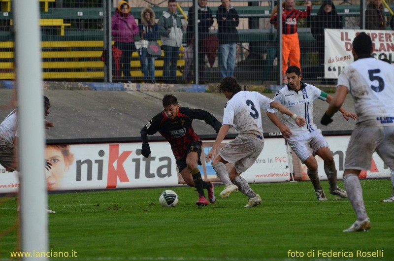
[[[213,24],[212,11],[207,6],[208,0],[198,0],[198,11],[197,11],[197,21],[198,21],[198,79],[202,81],[204,77],[204,69],[205,69],[205,53],[207,50],[203,46],[203,39],[208,35],[209,28]],[[194,43],[195,39],[195,6],[191,6],[188,11],[189,14],[189,23],[187,27],[187,39],[188,45]],[[196,52],[195,52],[196,53]]]

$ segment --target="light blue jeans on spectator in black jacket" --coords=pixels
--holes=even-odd
[[[222,78],[232,77],[234,74],[236,50],[235,43],[219,45],[219,68]]]

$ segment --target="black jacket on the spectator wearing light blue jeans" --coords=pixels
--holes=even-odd
[[[226,20],[223,20],[223,17]],[[235,18],[235,20],[233,20]],[[239,16],[237,11],[231,6],[229,10],[222,5],[216,11],[216,20],[218,22],[219,44],[234,43],[238,41]]]

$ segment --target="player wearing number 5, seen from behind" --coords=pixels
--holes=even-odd
[[[359,175],[361,170],[370,169],[372,154],[376,151],[394,169],[394,68],[373,58],[372,52],[371,37],[359,33],[353,40],[354,62],[339,75],[335,97],[321,120],[324,125],[331,123],[346,95],[352,95],[358,120],[346,151],[343,182],[357,220],[343,232],[371,228]]]

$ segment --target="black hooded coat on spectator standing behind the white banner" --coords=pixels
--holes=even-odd
[[[331,5],[331,12],[326,13],[324,11],[324,6],[326,4]],[[313,37],[318,37],[317,35],[324,35],[324,29],[342,29],[341,17],[336,12],[335,5],[331,0],[324,0],[320,9],[315,17],[315,22],[311,28],[311,33]]]

